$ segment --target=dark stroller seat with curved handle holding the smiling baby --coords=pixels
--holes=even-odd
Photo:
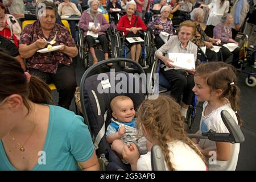
[[[110,101],[116,96],[125,95],[133,100],[136,109],[147,96],[146,77],[142,76],[140,80],[137,74],[113,72],[114,69],[108,73],[92,75],[92,72],[95,74],[95,70],[101,65],[119,61],[135,64],[138,68],[137,73],[144,74],[141,65],[133,60],[113,58],[101,61],[87,69],[80,83],[82,114],[92,135],[101,170],[104,171],[131,170],[130,164],[124,164],[106,142],[106,127],[111,118]]]

